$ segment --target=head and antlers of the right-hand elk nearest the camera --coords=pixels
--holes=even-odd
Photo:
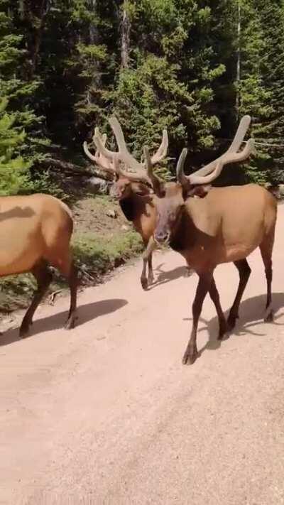
[[[219,176],[224,165],[244,161],[253,153],[254,144],[252,139],[249,139],[243,151],[237,152],[243,142],[250,120],[249,116],[244,116],[241,120],[234,141],[226,153],[191,175],[185,175],[183,170],[187,156],[187,149],[183,149],[176,169],[178,183],[163,183],[153,174],[148,148],[144,148],[148,176],[152,180],[156,195],[157,224],[154,233],[156,241],[160,244],[167,244],[174,237],[188,197],[194,195],[206,196],[209,191],[209,184]]]

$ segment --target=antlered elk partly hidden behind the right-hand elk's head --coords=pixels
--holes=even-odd
[[[93,143],[97,151],[93,155],[90,153],[87,142],[84,142],[84,153],[87,157],[99,165],[99,168],[107,171],[114,177],[114,183],[111,186],[110,195],[119,200],[119,205],[126,219],[133,222],[133,227],[136,229],[143,240],[146,251],[143,254],[143,270],[141,273],[141,286],[144,290],[153,283],[153,266],[152,253],[155,248],[153,240],[153,232],[155,229],[156,212],[151,197],[152,185],[151,179],[148,178],[145,165],[138,163],[135,158],[129,153],[124,139],[124,133],[121,125],[116,117],[109,119],[109,124],[114,132],[118,153],[109,151],[106,147],[107,136],[99,133],[99,129],[94,130]],[[168,134],[163,130],[163,139],[158,150],[151,157],[152,165],[159,163],[165,158],[168,150]],[[123,170],[119,161],[130,167],[133,173]],[[148,278],[146,269],[148,264]]]

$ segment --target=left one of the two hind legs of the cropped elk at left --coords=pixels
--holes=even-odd
[[[35,313],[35,310],[38,308],[38,305],[40,301],[43,299],[43,296],[48,290],[48,286],[50,285],[50,282],[52,281],[53,278],[50,270],[48,269],[48,264],[44,260],[36,264],[33,267],[31,273],[33,273],[33,276],[35,277],[38,283],[38,289],[35,291],[31,305],[29,306],[28,310],[26,311],[26,314],[23,317],[23,321],[20,327],[21,338],[24,338],[28,335],[28,330],[31,324],[33,323],[33,314]]]

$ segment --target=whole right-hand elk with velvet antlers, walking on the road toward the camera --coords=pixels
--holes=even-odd
[[[277,215],[275,198],[266,189],[253,184],[228,188],[209,187],[224,165],[244,161],[253,153],[252,139],[246,143],[243,151],[238,152],[250,122],[250,116],[244,116],[226,153],[188,176],[183,171],[187,155],[187,150],[184,149],[177,165],[178,183],[164,183],[153,174],[148,148],[144,148],[146,175],[141,172],[138,175],[135,172],[129,173],[132,181],[143,178],[148,183],[151,180],[155,192],[153,204],[157,212],[155,241],[158,244],[169,244],[172,249],[180,252],[187,265],[200,277],[192,305],[192,334],[182,360],[184,364],[194,363],[197,358],[197,325],[208,292],[219,318],[219,338],[222,339],[227,330],[234,328],[239,317],[241,297],[251,272],[246,256],[258,246],[267,279],[266,320],[273,318],[271,256]],[[121,156],[120,153],[114,156],[104,148],[101,141],[96,139],[96,142],[102,156],[110,158],[112,154],[113,158],[135,168],[129,157]],[[192,198],[195,195],[199,198]],[[149,241],[146,254],[152,247],[153,244]],[[239,287],[226,321],[213,272],[218,264],[231,261],[239,271]]]

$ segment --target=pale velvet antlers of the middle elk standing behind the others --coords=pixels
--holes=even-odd
[[[97,146],[97,149],[99,152],[102,153],[102,155],[105,158],[108,159],[114,159],[114,156],[124,163],[124,165],[128,166],[133,170],[133,172],[128,172],[126,170],[123,170],[122,168],[119,168],[119,172],[121,175],[124,175],[126,178],[129,178],[129,180],[142,180],[143,182],[149,183],[149,178],[145,170],[145,164],[139,163],[132,155],[129,153],[126,142],[124,139],[124,132],[121,129],[121,125],[119,124],[119,121],[116,119],[115,116],[112,116],[111,119],[109,119],[109,124],[111,125],[111,129],[114,132],[114,136],[116,138],[117,145],[119,147],[118,152],[112,152],[109,151],[109,149],[105,148],[105,146],[102,143],[102,139],[100,139],[99,136],[94,136],[94,143]],[[160,143],[160,147],[158,148],[158,151],[156,151],[155,154],[153,154],[151,158],[151,163],[155,164],[161,161],[163,158],[165,158],[166,154],[168,151],[168,133],[166,130],[163,130],[163,139],[162,142]]]

